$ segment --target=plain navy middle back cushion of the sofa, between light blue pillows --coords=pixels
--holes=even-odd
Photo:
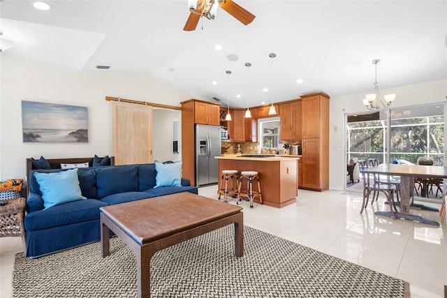
[[[98,198],[113,193],[138,191],[138,167],[136,165],[117,165],[96,168],[96,187]]]

